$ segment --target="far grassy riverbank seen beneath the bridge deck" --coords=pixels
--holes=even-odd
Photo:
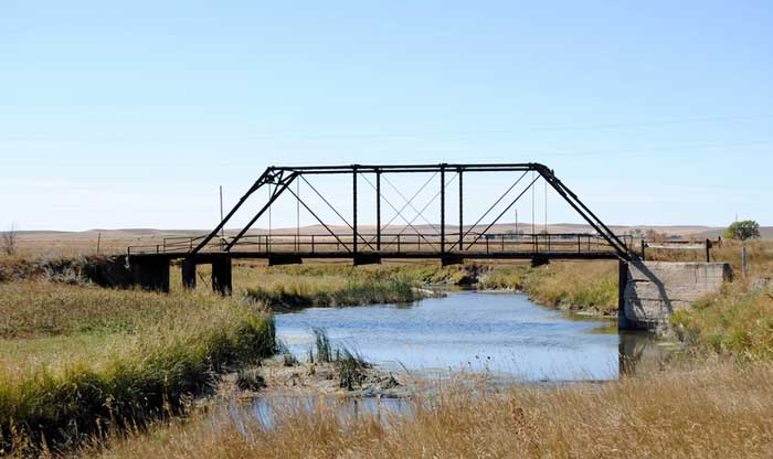
[[[463,287],[518,291],[537,303],[570,312],[617,313],[617,265],[610,261],[555,261],[537,268],[528,264],[236,264],[234,285],[255,299],[292,308],[409,302],[432,296],[427,287]]]

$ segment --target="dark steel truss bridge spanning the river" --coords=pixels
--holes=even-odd
[[[495,196],[496,199],[491,200],[490,206],[481,215],[475,216],[475,223],[465,223],[464,178],[470,174],[490,172],[509,174],[513,180],[512,184],[504,194]],[[419,192],[440,175],[440,188],[423,209],[416,209],[413,204],[419,192],[410,199],[400,194],[404,201],[401,205],[393,204],[382,193],[382,181],[388,181],[388,177],[417,173],[432,174]],[[351,195],[346,203],[347,206],[351,205],[349,217],[346,217],[337,209],[336,204],[340,206],[340,202],[328,200],[309,180],[320,175],[330,175],[336,180],[350,183]],[[533,189],[540,179],[544,180],[546,185],[576,212],[595,233],[549,234],[543,232],[534,234],[533,231],[532,234],[493,233],[491,228],[529,190]],[[456,184],[449,191],[448,188],[453,181],[456,181]],[[333,227],[329,222],[325,222],[320,217],[320,210],[309,205],[299,195],[300,193],[290,186],[301,182],[343,222],[343,225]],[[375,199],[372,202],[362,200],[363,188],[370,188],[374,191]],[[454,196],[455,204],[458,205],[458,221],[456,222],[446,221],[446,199],[449,192],[458,193],[458,199]],[[258,218],[267,212],[269,213],[272,206],[282,195],[295,198],[298,209],[303,206],[322,230],[314,234],[306,232],[301,234],[299,230],[295,234],[286,231],[250,233]],[[251,200],[260,200],[260,196],[264,196],[263,203],[248,223],[235,235],[225,235],[223,231],[225,225],[244,207],[245,203]],[[475,196],[475,199],[480,201],[480,196]],[[423,213],[433,204],[440,206],[441,217],[440,222],[430,223],[423,217]],[[389,206],[394,214],[386,224],[382,222],[382,207],[384,205]],[[495,209],[502,205],[504,210],[495,212]],[[358,210],[364,209],[363,206],[370,207],[371,211],[372,207],[375,207],[375,225],[370,227],[361,225]],[[413,218],[406,218],[403,214],[406,209],[411,209],[416,215]],[[437,211],[437,207],[434,211]],[[384,228],[395,226],[392,223],[398,217],[402,218],[400,231],[384,232]],[[426,224],[416,224],[419,217],[424,218]],[[620,259],[627,261],[636,257],[632,246],[633,241],[629,236],[614,234],[574,192],[555,177],[551,169],[541,163],[350,164],[269,167],[209,234],[197,237],[166,238],[161,244],[152,246],[128,247],[127,259],[131,261],[133,269],[136,267],[138,270],[149,273],[137,276],[138,284],[144,287],[168,289],[169,261],[182,259],[182,278],[186,286],[195,285],[195,266],[198,264],[212,264],[212,285],[220,291],[230,291],[231,259],[237,258],[265,258],[272,265],[301,263],[304,258],[345,258],[351,259],[354,265],[380,263],[386,258],[434,258],[440,259],[443,264],[457,264],[463,263],[464,259],[476,258],[530,259],[532,264],[539,265],[548,263],[550,259]],[[153,280],[157,278],[160,280]]]

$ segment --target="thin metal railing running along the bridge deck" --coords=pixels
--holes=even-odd
[[[187,254],[205,236],[166,237],[159,244],[128,247],[129,255],[137,254]],[[633,246],[632,236],[620,236],[628,246]],[[220,237],[210,241],[203,253],[221,253],[233,241]],[[354,241],[357,244],[354,244]],[[445,241],[445,244],[443,244]],[[357,247],[354,247],[357,245]],[[459,238],[458,233],[446,233],[445,238],[436,233],[300,233],[253,234],[243,236],[231,248],[231,253],[297,253],[347,254],[495,254],[495,253],[565,253],[590,254],[614,252],[608,242],[599,235],[578,233],[466,233]]]

